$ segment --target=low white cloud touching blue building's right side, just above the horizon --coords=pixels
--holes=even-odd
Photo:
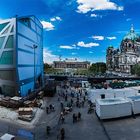
[[[43,50],[43,60],[44,63],[53,63],[53,61],[58,61],[59,60],[59,56],[52,54],[51,51],[49,51],[48,49],[44,49]]]

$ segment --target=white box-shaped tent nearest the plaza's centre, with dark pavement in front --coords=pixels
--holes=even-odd
[[[131,102],[124,98],[106,98],[96,100],[96,113],[100,119],[130,116]]]

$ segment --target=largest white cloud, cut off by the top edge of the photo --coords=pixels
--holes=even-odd
[[[77,0],[77,3],[77,12],[83,14],[95,10],[123,10],[122,6],[118,6],[110,0]]]

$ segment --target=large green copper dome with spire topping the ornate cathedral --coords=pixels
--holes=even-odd
[[[130,32],[123,38],[123,40],[136,40],[139,38],[139,35],[137,35],[134,31],[133,25],[131,26]]]

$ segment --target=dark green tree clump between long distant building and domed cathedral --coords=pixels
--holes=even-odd
[[[106,64],[103,62],[93,63],[90,68],[90,72],[93,73],[105,73],[106,72]]]

